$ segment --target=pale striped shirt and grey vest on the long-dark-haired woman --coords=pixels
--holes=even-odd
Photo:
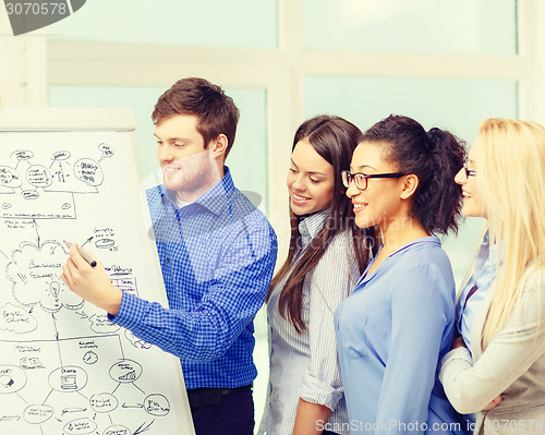
[[[328,214],[326,209],[300,222],[300,254],[324,227]],[[300,398],[332,410],[329,421],[323,422],[322,428],[348,434],[334,313],[359,278],[352,238],[346,231],[331,240],[319,263],[304,280],[302,317],[306,329],[302,334],[298,334],[278,311],[278,299],[284,282],[272,290],[267,305],[269,386],[259,435],[291,434]]]

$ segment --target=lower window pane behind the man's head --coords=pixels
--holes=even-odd
[[[165,92],[160,87],[117,86],[51,86],[51,107],[110,107],[129,108],[134,112],[136,123],[135,142],[142,174],[146,186],[161,182],[157,172],[159,166],[155,156],[156,140],[152,111],[157,98]],[[234,145],[227,158],[234,183],[247,196],[259,203],[266,212],[267,205],[267,136],[266,136],[266,90],[226,88],[234,99],[241,119],[237,129]],[[120,102],[122,101],[122,102]],[[252,165],[249,165],[249,161]]]

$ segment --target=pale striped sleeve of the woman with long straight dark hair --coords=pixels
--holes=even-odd
[[[334,239],[313,271],[308,286],[308,339],[311,361],[299,388],[300,397],[331,411],[342,398],[342,377],[337,359],[334,313],[359,278],[347,233]]]

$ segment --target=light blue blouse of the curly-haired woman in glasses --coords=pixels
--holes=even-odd
[[[351,433],[464,433],[437,378],[453,324],[455,280],[436,237],[364,273],[335,313]]]

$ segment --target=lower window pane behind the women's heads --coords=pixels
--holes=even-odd
[[[338,114],[364,131],[390,113],[404,114],[425,129],[450,131],[469,148],[483,119],[517,118],[517,87],[513,81],[308,76],[305,117]],[[469,218],[458,237],[444,242],[457,283],[470,265],[483,223]]]

